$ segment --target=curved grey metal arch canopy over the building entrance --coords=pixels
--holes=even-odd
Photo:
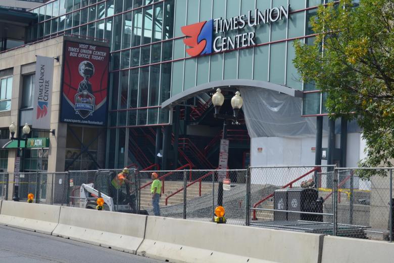
[[[162,108],[170,107],[180,104],[181,102],[191,99],[198,94],[210,92],[214,89],[220,88],[222,90],[234,90],[239,87],[251,87],[255,89],[266,89],[281,94],[286,94],[290,97],[302,98],[303,92],[291,89],[290,87],[279,85],[267,81],[251,80],[251,79],[227,79],[212,81],[209,83],[201,84],[182,93],[172,96],[170,99],[162,103]]]

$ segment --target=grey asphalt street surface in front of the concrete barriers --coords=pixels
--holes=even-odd
[[[162,262],[64,238],[0,226],[1,263]]]

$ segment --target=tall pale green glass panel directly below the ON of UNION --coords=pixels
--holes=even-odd
[[[270,82],[284,84],[284,68],[286,59],[286,43],[271,45]]]

